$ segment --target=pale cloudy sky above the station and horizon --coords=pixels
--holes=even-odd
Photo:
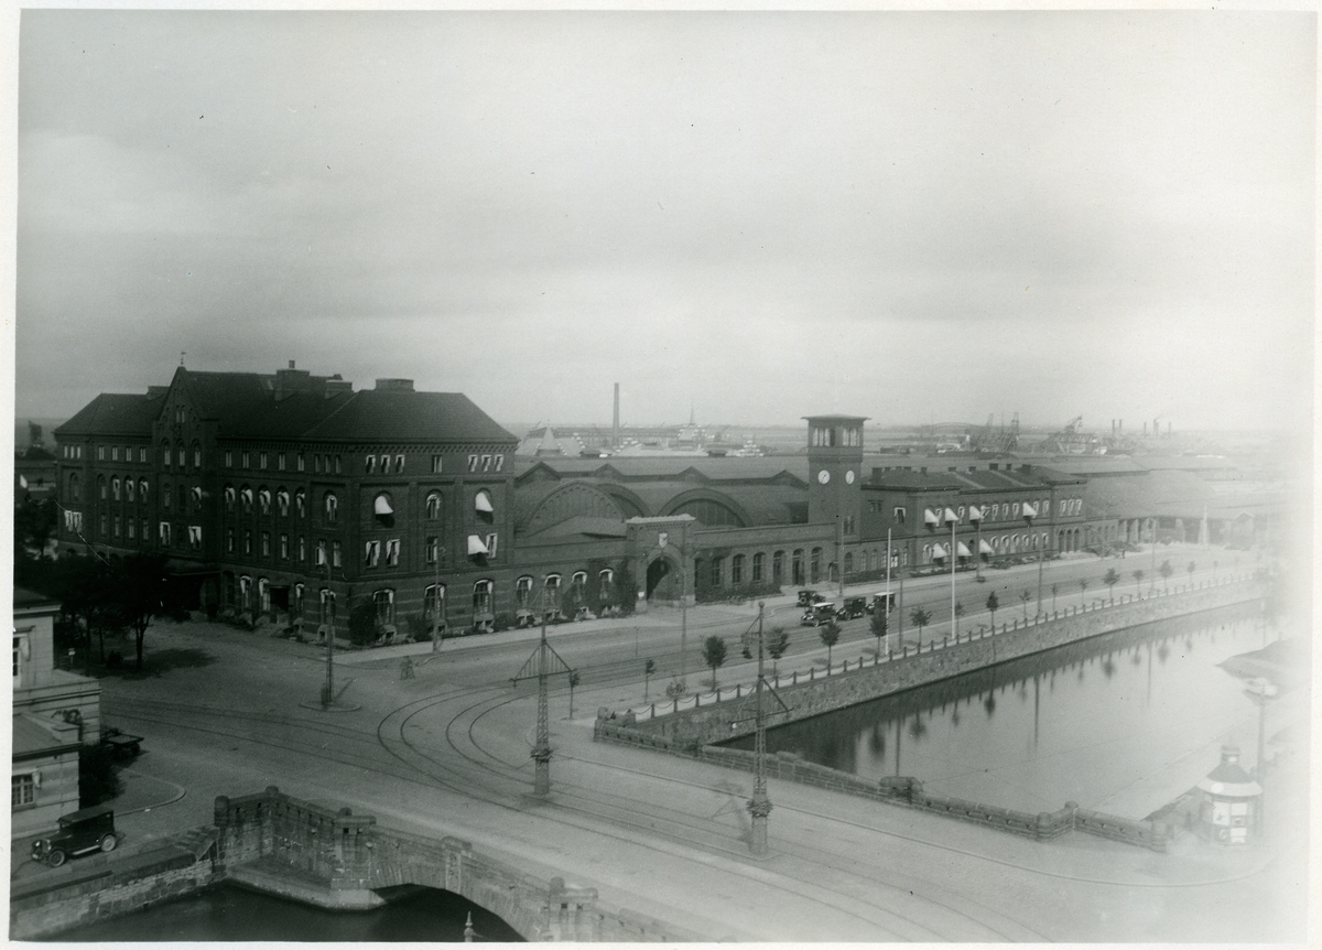
[[[504,421],[1311,404],[1310,13],[24,11],[16,413],[192,369]]]

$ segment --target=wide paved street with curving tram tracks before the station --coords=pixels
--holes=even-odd
[[[1089,558],[1060,569],[1100,576],[1105,566]],[[1018,583],[1026,570],[1011,577]],[[939,595],[927,582],[912,586],[917,597]],[[783,611],[788,601],[773,606]],[[691,654],[702,635],[747,628],[754,611],[690,610]],[[1305,808],[1284,774],[1269,787],[1278,804],[1265,843],[1231,852],[1185,836],[1167,855],[1083,835],[1025,842],[772,782],[772,855],[751,859],[750,775],[591,741],[599,705],[641,699],[644,658],[677,669],[677,619],[656,611],[551,630],[583,681],[572,718],[567,689],[553,692],[547,802],[527,794],[535,687],[510,684],[535,630],[447,640],[435,656],[423,644],[341,654],[337,688],[358,708],[321,712],[304,705],[325,676],[316,647],[157,623],[147,650],[159,675],[103,679],[107,721],[147,736],[130,791],[159,799],[122,810],[126,851],[209,822],[218,794],[278,785],[393,826],[469,839],[535,873],[595,886],[607,904],[713,938],[1302,939],[1303,845],[1292,830]],[[866,621],[847,628],[846,638],[870,643]],[[813,640],[808,628],[796,632],[797,660],[783,663],[810,662]],[[402,680],[407,652],[415,675]],[[658,675],[649,688],[665,681]]]

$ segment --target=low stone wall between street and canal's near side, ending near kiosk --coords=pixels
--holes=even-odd
[[[604,720],[598,721],[595,738],[669,752],[685,758],[695,758],[699,762],[710,762],[742,771],[754,771],[756,762],[755,754],[746,749],[724,749],[715,745],[705,745],[694,750],[661,736],[648,734],[628,726],[611,725]],[[1038,814],[1015,811],[1013,808],[969,802],[961,798],[932,795],[923,791],[923,783],[916,778],[899,777],[879,781],[859,778],[847,771],[808,762],[793,753],[785,752],[767,757],[767,777],[798,782],[800,785],[812,785],[846,795],[871,798],[878,802],[910,806],[1038,840],[1059,838],[1067,831],[1081,831],[1126,844],[1137,844],[1153,851],[1166,851],[1169,838],[1169,830],[1162,823],[1134,822],[1100,811],[1088,811],[1080,808],[1076,802],[1066,802],[1064,807],[1058,811],[1042,811]]]

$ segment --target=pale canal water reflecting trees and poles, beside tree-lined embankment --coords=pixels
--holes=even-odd
[[[1006,808],[1142,819],[1223,744],[1256,763],[1259,707],[1218,664],[1263,646],[1249,605],[1162,621],[775,728],[767,750]]]

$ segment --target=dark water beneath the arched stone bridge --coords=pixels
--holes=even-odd
[[[475,942],[522,942],[504,921],[444,890],[423,889],[383,908],[336,912],[221,884],[115,920],[65,930],[52,941],[457,942],[473,914]]]

